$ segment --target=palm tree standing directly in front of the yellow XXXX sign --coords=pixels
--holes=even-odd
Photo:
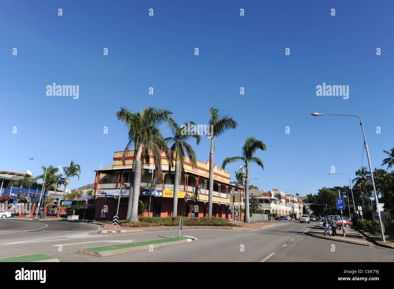
[[[175,158],[175,179],[174,179],[174,193],[173,193],[173,217],[178,215],[178,188],[180,181],[180,173],[184,170],[185,156],[190,158],[190,164],[193,169],[197,169],[196,153],[186,141],[189,138],[195,138],[197,145],[200,144],[201,136],[196,132],[190,130],[190,126],[195,125],[193,121],[187,121],[179,126],[175,121],[171,121],[171,131],[173,136],[165,138],[167,144],[171,145],[171,163]],[[176,154],[176,155],[175,155]],[[197,192],[196,192],[197,193]]]

